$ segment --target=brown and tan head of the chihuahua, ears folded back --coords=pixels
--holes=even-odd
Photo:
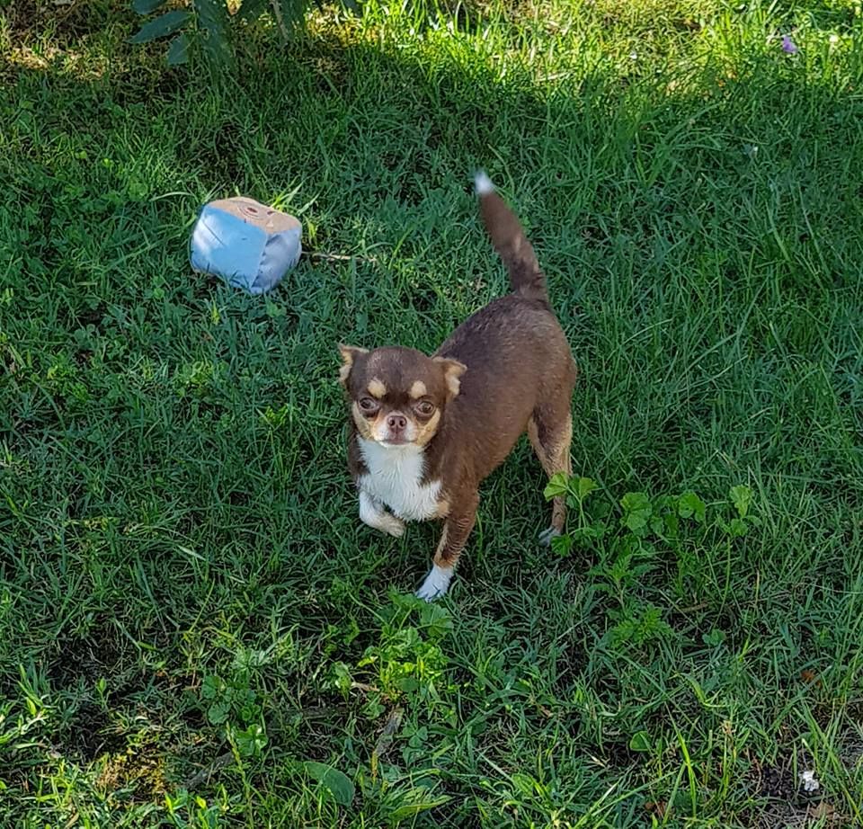
[[[432,440],[447,404],[458,396],[465,366],[412,348],[340,345],[339,351],[339,379],[361,437],[386,447],[423,447]]]

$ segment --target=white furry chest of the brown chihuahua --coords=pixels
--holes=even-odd
[[[360,489],[405,521],[423,521],[437,513],[440,481],[422,483],[425,457],[421,448],[413,444],[386,447],[358,440],[369,469],[360,477]]]

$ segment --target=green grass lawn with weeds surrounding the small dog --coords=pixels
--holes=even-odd
[[[0,4],[0,826],[861,825],[859,0],[372,0],[218,83],[139,22]],[[538,547],[520,443],[420,606],[335,344],[505,290],[477,165],[580,364],[574,509]],[[268,298],[188,266],[233,193],[304,223]]]

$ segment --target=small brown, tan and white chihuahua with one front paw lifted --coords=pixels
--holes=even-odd
[[[432,572],[417,591],[427,601],[447,592],[476,521],[479,485],[521,434],[549,477],[571,468],[577,370],[569,343],[518,218],[485,173],[476,175],[476,192],[511,293],[470,316],[431,357],[400,346],[339,347],[360,521],[398,537],[405,521],[444,520]],[[544,543],[565,517],[557,497]]]

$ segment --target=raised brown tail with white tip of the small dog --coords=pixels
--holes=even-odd
[[[547,302],[546,276],[539,269],[537,254],[524,235],[518,217],[494,190],[492,180],[483,171],[476,174],[474,181],[485,229],[510,274],[512,292],[525,299]]]

